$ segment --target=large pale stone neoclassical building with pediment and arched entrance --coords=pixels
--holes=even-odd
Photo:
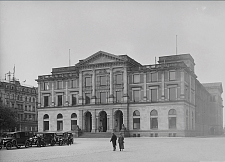
[[[221,83],[201,84],[190,54],[142,65],[99,51],[38,76],[38,131],[119,132],[130,136],[221,134]]]

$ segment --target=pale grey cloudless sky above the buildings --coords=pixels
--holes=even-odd
[[[0,79],[15,65],[17,79],[37,86],[39,75],[100,50],[147,65],[177,47],[192,55],[201,83],[225,87],[224,8],[223,1],[0,1]]]

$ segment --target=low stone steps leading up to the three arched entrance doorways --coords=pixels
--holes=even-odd
[[[119,136],[119,132],[115,133],[116,136]],[[112,133],[111,132],[96,132],[96,133],[91,133],[91,132],[83,132],[79,138],[111,138]]]

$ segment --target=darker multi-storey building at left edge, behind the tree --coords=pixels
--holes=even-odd
[[[37,131],[37,88],[16,80],[0,81],[0,102],[17,114],[17,127],[1,131]]]

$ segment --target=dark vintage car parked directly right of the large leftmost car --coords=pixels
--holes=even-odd
[[[37,132],[37,146],[54,146],[57,141],[57,135],[55,132]]]

